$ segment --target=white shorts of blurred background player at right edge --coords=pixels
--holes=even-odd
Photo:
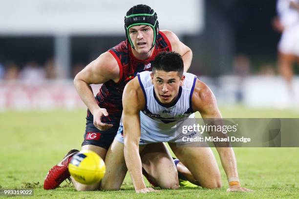
[[[299,24],[283,31],[278,50],[283,54],[299,56]]]

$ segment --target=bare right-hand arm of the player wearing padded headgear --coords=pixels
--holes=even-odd
[[[184,61],[184,72],[187,72],[192,62],[192,50],[186,46],[178,37],[169,30],[162,30],[171,43],[172,51],[177,52],[182,56]]]

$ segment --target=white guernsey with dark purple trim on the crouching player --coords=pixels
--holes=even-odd
[[[145,97],[145,107],[140,111],[140,144],[153,142],[175,142],[180,137],[177,127],[188,118],[194,118],[192,94],[197,77],[191,73],[186,76],[183,86],[171,104],[163,104],[156,97],[149,71],[138,74],[138,80]],[[184,135],[186,136],[186,135]],[[122,123],[116,139],[124,143]]]

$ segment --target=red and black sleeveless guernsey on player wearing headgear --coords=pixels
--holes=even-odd
[[[102,121],[119,122],[123,111],[122,96],[126,84],[138,73],[151,71],[151,62],[162,51],[171,51],[171,44],[167,37],[160,31],[154,51],[148,60],[138,60],[135,58],[128,40],[122,41],[108,50],[115,60],[117,60],[120,69],[120,79],[117,83],[113,80],[105,82],[96,96],[98,105],[101,108],[106,108],[109,113],[109,116],[102,118]]]

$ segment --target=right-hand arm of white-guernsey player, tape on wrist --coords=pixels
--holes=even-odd
[[[222,118],[213,92],[200,80],[196,80],[192,95],[192,107],[194,111],[200,112],[203,119]],[[216,149],[229,181],[230,188],[227,191],[251,191],[240,186],[233,148],[216,147]]]

